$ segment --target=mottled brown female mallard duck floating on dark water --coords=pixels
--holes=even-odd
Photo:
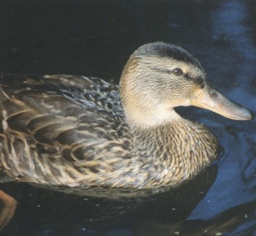
[[[211,88],[197,59],[163,42],[132,54],[120,94],[117,85],[83,76],[1,75],[0,85],[1,172],[48,186],[176,185],[210,165],[218,143],[174,107],[252,118]]]

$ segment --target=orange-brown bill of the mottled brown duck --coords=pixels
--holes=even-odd
[[[249,110],[220,94],[210,85],[206,85],[205,88],[201,89],[190,104],[211,110],[233,120],[247,121],[252,119]]]

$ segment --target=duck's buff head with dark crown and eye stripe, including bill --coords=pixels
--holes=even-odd
[[[164,42],[135,50],[121,75],[120,95],[128,123],[139,126],[180,119],[173,108],[189,105],[233,120],[252,119],[246,108],[211,87],[195,57]]]

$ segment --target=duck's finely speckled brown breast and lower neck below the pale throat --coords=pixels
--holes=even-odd
[[[181,117],[158,126],[133,126],[132,132],[142,169],[157,186],[192,178],[217,158],[214,135],[203,125]]]

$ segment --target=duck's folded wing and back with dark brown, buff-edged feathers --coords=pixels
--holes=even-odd
[[[0,169],[10,178],[100,182],[113,162],[129,159],[131,140],[118,85],[83,76],[0,75]]]

